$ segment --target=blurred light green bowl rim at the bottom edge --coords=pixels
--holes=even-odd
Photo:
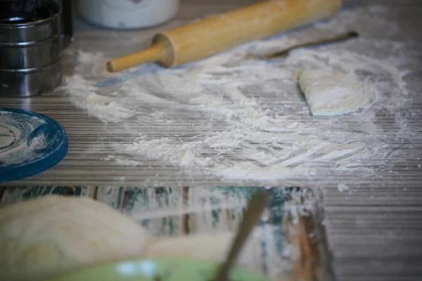
[[[212,281],[219,263],[188,259],[141,259],[83,268],[49,281]],[[270,281],[243,268],[231,270],[231,281]]]

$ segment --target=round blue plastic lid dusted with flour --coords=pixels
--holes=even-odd
[[[45,115],[0,107],[0,183],[50,169],[68,153],[63,126]]]

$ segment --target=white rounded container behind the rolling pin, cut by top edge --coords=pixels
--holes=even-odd
[[[179,9],[179,0],[78,0],[77,7],[87,22],[128,30],[171,20]]]

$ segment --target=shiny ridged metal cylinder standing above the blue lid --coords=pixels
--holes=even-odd
[[[38,96],[60,85],[60,13],[53,0],[0,1],[0,96]]]

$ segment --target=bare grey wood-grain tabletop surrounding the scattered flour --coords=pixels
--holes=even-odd
[[[115,32],[100,30],[78,20],[77,33],[71,50],[108,50],[108,55],[122,55],[147,46],[157,30],[166,30],[188,20],[212,13],[229,11],[232,8],[253,2],[251,0],[184,0],[181,11],[172,22],[152,30]],[[298,179],[280,186],[295,185],[321,190],[326,213],[325,226],[328,243],[333,251],[333,268],[340,281],[413,281],[422,280],[422,1],[418,0],[372,0],[360,1],[362,5],[383,5],[388,12],[386,20],[394,21],[400,28],[394,41],[411,44],[418,53],[407,65],[411,75],[405,78],[407,91],[412,101],[400,108],[397,114],[416,112],[407,116],[407,126],[414,130],[412,138],[397,139],[390,143],[395,152],[387,162],[376,167],[376,173],[357,181],[356,175],[343,176],[341,182],[349,186],[348,192],[339,192],[335,178]],[[371,26],[358,30],[382,40],[383,32],[372,32]],[[388,30],[385,30],[387,33]],[[121,42],[136,35],[136,44]],[[368,36],[369,36],[368,35]],[[105,47],[107,46],[107,47]],[[66,60],[68,61],[68,60]],[[72,74],[70,66],[65,74]],[[12,187],[78,185],[85,187],[120,186],[190,186],[207,188],[212,186],[254,185],[255,182],[222,181],[212,177],[188,177],[174,166],[163,166],[159,161],[149,161],[145,166],[122,167],[101,159],[110,154],[106,148],[92,153],[87,147],[99,143],[119,141],[129,143],[130,136],[110,136],[107,126],[90,117],[60,94],[60,91],[37,98],[24,100],[0,100],[1,107],[33,110],[49,115],[63,124],[68,131],[70,151],[56,168],[23,181],[6,183],[6,193]],[[379,117],[380,124],[395,130],[387,116]],[[108,125],[113,126],[113,125]],[[397,125],[399,126],[399,125]],[[154,179],[151,184],[150,178]],[[148,181],[147,181],[148,179]],[[5,193],[5,194],[6,194]],[[9,193],[7,193],[9,194]]]

